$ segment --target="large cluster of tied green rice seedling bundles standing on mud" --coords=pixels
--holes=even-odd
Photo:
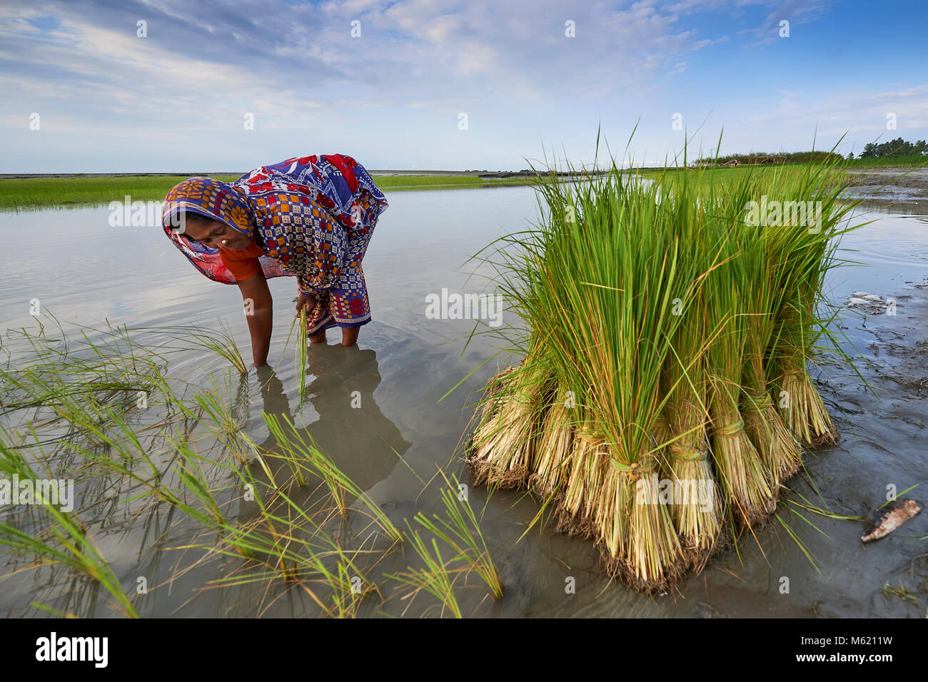
[[[542,219],[493,262],[522,363],[487,384],[474,483],[531,490],[645,592],[766,521],[802,445],[836,437],[807,369],[853,207],[835,173],[539,175]],[[818,210],[750,212],[789,201]]]

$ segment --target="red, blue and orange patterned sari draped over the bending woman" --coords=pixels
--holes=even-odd
[[[161,214],[165,234],[202,275],[235,284],[219,255],[172,227],[192,211],[251,238],[264,251],[264,277],[297,277],[316,297],[310,334],[370,321],[361,261],[380,213],[388,206],[364,166],[349,156],[294,157],[244,174],[232,183],[192,177],[168,192]]]

